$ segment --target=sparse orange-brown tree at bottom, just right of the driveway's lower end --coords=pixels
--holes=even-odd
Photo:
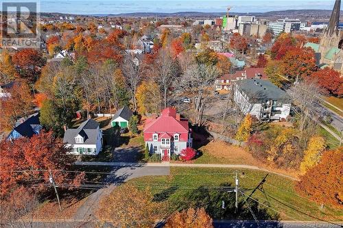
[[[97,215],[111,220],[115,227],[153,227],[158,205],[150,190],[139,190],[131,184],[119,186],[99,203]]]

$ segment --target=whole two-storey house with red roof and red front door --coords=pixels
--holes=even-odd
[[[172,107],[163,110],[161,116],[147,120],[143,133],[150,153],[161,154],[164,161],[169,161],[172,153],[179,154],[183,149],[192,147],[188,120],[181,118]]]

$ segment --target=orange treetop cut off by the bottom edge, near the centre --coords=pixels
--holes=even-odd
[[[189,208],[182,212],[175,212],[165,224],[166,228],[213,228],[213,220],[204,208]]]

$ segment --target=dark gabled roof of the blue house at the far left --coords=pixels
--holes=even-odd
[[[34,136],[34,134],[36,134],[34,129],[38,129],[38,130],[41,129],[41,127],[37,127],[37,125],[40,126],[39,112],[37,112],[35,114],[32,114],[23,123],[21,123],[18,126],[14,127],[14,129],[7,136],[7,139],[12,138],[11,136],[12,136],[12,133],[14,131],[18,132],[23,137],[31,138],[32,136]]]

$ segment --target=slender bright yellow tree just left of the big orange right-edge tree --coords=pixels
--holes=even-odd
[[[304,151],[304,159],[300,164],[300,172],[306,173],[309,168],[316,166],[320,162],[322,152],[325,149],[325,140],[320,136],[310,138],[307,150]]]

